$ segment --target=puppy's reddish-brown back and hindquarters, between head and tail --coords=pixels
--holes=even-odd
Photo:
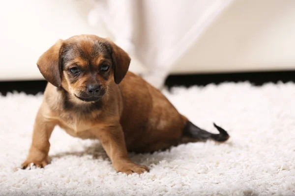
[[[181,137],[186,119],[159,90],[131,72],[119,87],[123,100],[120,123],[127,147]]]

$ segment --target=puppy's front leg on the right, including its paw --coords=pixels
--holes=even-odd
[[[128,157],[121,125],[107,125],[94,131],[94,133],[102,143],[102,147],[107,152],[117,172],[140,174],[149,171],[147,166],[137,165]]]

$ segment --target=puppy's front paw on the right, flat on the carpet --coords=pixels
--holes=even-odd
[[[131,173],[141,174],[144,172],[149,172],[149,169],[147,166],[137,165],[135,163],[120,163],[114,167],[117,170],[117,172],[126,173],[127,175]]]

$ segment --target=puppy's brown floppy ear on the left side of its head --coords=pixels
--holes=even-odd
[[[62,50],[63,40],[59,40],[44,52],[37,61],[37,66],[43,77],[56,87],[61,86]]]

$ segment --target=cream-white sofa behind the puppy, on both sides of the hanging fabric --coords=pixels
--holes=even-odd
[[[38,57],[59,38],[109,37],[91,27],[84,0],[0,1],[0,81],[42,79]],[[295,1],[236,0],[172,73],[295,70]],[[146,69],[133,59],[130,70]]]

